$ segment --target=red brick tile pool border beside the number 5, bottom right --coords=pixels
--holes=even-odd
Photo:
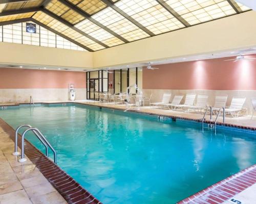
[[[256,164],[179,201],[178,204],[223,203],[255,183]]]

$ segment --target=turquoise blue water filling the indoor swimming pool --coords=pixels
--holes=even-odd
[[[38,127],[58,165],[105,204],[176,203],[256,163],[254,134],[202,133],[197,123],[82,105],[9,108],[0,117],[14,129]]]

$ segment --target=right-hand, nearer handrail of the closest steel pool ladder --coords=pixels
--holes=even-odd
[[[20,159],[19,159],[18,161],[19,161],[19,162],[25,162],[25,161],[27,160],[27,159],[25,158],[25,156],[24,156],[24,138],[25,138],[26,133],[29,132],[29,131],[33,131],[33,133],[36,132],[36,133],[39,135],[38,139],[41,138],[41,139],[44,140],[44,142],[50,147],[50,149],[51,149],[52,152],[53,152],[54,163],[57,164],[57,154],[56,154],[55,149],[54,149],[54,148],[52,147],[52,145],[48,142],[48,140],[45,138],[45,136],[42,135],[42,133],[41,133],[37,128],[34,128],[34,127],[31,127],[31,128],[29,128],[29,129],[27,129],[27,130],[24,131],[24,133],[22,134],[22,154],[21,154],[21,157],[20,157]],[[38,136],[37,134],[35,134],[35,136]],[[40,139],[39,139],[39,140],[40,140]],[[41,141],[41,140],[40,140],[40,141]]]

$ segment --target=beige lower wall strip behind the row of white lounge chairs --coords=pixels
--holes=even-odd
[[[228,95],[228,100],[226,106],[229,107],[231,103],[232,97],[246,97],[246,101],[244,104],[244,108],[248,109],[248,114],[252,113],[252,105],[250,98],[254,97],[256,98],[256,91],[254,90],[176,90],[176,89],[143,89],[143,95],[151,98],[151,103],[155,102],[161,102],[162,96],[164,93],[172,93],[172,97],[170,98],[170,102],[173,100],[174,96],[176,94],[182,94],[184,95],[183,100],[181,101],[181,104],[184,103],[185,95],[187,93],[195,93],[195,94],[206,94],[209,96],[207,105],[213,106],[215,101],[216,95]],[[197,100],[195,100],[195,103]]]

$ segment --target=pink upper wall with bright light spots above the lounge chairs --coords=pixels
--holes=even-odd
[[[246,58],[256,58],[256,55]],[[219,58],[143,68],[143,89],[256,90],[256,60]]]

